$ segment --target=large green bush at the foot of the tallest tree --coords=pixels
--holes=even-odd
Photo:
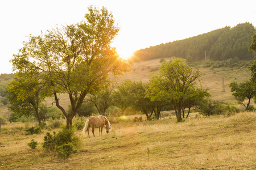
[[[73,129],[67,129],[65,126],[57,134],[53,131],[53,135],[46,133],[42,147],[55,151],[61,158],[75,152],[80,145],[80,139],[74,133]]]

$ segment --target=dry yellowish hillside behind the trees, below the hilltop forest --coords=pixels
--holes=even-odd
[[[166,61],[170,60],[170,58],[165,58]],[[204,67],[199,65],[199,69],[203,76],[200,78],[200,82],[203,88],[209,88],[209,93],[212,95],[211,99],[213,100],[221,100],[221,101],[231,101],[236,103],[236,100],[232,96],[230,92],[229,83],[233,81],[243,82],[250,78],[250,72],[247,67]],[[157,73],[161,63],[159,59],[152,59],[150,61],[142,61],[135,62],[132,64],[133,70],[130,73],[127,73],[123,76],[120,76],[116,79],[116,82],[122,82],[125,79],[130,79],[134,81],[142,80],[143,83],[148,82],[150,80],[150,75]],[[209,63],[209,65],[213,65],[213,63]],[[224,78],[224,88],[225,92],[222,92],[222,80]],[[64,106],[64,109],[68,109],[69,98],[67,95],[60,95],[60,105]],[[53,99],[47,99],[47,103],[51,105],[53,103]],[[6,106],[0,106],[0,115],[8,116],[10,112],[7,110]]]

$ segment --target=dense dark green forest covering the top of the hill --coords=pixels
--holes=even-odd
[[[139,62],[174,56],[195,62],[204,60],[205,53],[207,59],[212,61],[230,58],[237,61],[252,59],[256,54],[249,51],[249,45],[255,30],[250,23],[238,24],[233,28],[226,26],[188,39],[137,50],[130,61]]]

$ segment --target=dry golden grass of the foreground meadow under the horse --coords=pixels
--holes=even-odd
[[[2,133],[0,169],[256,169],[253,112],[112,126],[110,134],[82,137],[81,149],[67,160],[27,146],[31,139],[42,143],[46,131]]]

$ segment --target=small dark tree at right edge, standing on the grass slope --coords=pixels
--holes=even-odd
[[[247,111],[251,99],[253,99],[253,97],[256,95],[255,84],[250,80],[247,80],[246,82],[242,83],[232,82],[230,83],[229,87],[231,87],[230,91],[233,92],[232,95],[235,97],[239,104],[243,104],[243,101],[248,99],[248,103],[246,105],[243,104],[245,110]]]

